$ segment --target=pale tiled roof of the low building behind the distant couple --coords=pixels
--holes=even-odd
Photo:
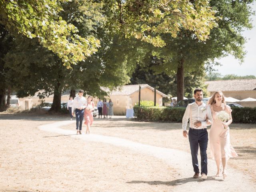
[[[141,89],[149,88],[154,91],[154,88],[149,86],[148,84],[124,85],[124,86],[118,87],[116,90],[113,90],[112,92],[110,92],[107,88],[102,88],[102,90],[109,92],[109,95],[130,95],[134,92],[139,91],[139,86]],[[158,94],[162,95],[163,97],[167,97],[166,94],[164,94],[158,90],[156,90],[156,92]]]

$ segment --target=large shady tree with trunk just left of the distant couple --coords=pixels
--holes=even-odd
[[[67,70],[61,59],[40,46],[35,38],[19,35],[9,42],[11,48],[3,58],[5,69],[8,69],[3,79],[9,82],[11,89],[19,97],[34,95],[39,90],[41,98],[54,94],[51,108],[54,111],[60,110],[61,94],[68,88],[82,88],[86,94],[101,96],[104,92],[100,86],[112,89],[129,82],[130,71],[134,68],[132,63],[136,63],[140,55],[136,44],[141,43],[106,30],[101,4],[77,0],[65,2],[62,7],[64,12],[60,15],[75,24],[81,36],[94,34],[102,41],[98,52]]]

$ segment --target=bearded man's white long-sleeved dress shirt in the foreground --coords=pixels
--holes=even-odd
[[[185,131],[188,125],[189,119],[189,127],[193,129],[203,129],[206,128],[206,116],[207,118],[213,122],[212,112],[209,105],[206,105],[204,102],[200,106],[196,104],[196,102],[188,104],[184,116],[182,118],[182,130]],[[194,123],[200,121],[202,122],[202,126],[196,128]]]

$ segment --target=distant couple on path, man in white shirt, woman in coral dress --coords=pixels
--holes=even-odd
[[[74,98],[72,104],[72,116],[74,116],[74,111],[76,113],[76,134],[82,134],[83,119],[85,119],[86,134],[90,134],[90,126],[93,122],[94,102],[92,101],[92,96],[88,96],[86,101],[83,94],[84,90],[79,90],[78,96]]]

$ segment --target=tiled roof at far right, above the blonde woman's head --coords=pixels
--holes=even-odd
[[[208,84],[207,90],[210,92],[256,90],[256,79],[206,81],[205,84]]]

